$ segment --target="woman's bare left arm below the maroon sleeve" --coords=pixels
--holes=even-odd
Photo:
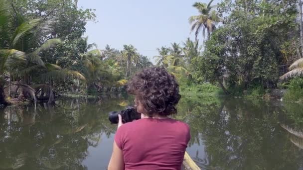
[[[107,170],[124,170],[123,153],[116,142],[114,142],[113,154]]]

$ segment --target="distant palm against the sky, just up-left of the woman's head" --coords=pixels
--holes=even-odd
[[[122,55],[126,60],[126,74],[125,77],[128,77],[128,73],[131,73],[132,63],[137,63],[139,61],[139,54],[137,49],[132,45],[124,45]]]

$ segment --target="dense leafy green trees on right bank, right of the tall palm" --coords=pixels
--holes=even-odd
[[[302,56],[297,6],[295,0],[219,3],[224,25],[205,43],[196,80],[217,82],[226,94],[228,88],[276,88],[287,67]]]

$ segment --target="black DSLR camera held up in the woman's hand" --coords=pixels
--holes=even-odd
[[[111,123],[117,124],[119,122],[118,114],[122,116],[123,123],[128,123],[133,120],[141,119],[141,114],[138,113],[134,107],[128,106],[125,110],[111,111],[108,116],[108,119]]]

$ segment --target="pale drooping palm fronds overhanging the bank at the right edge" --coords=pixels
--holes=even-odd
[[[295,61],[290,67],[289,72],[281,76],[281,80],[286,80],[292,77],[303,76],[303,58]]]

